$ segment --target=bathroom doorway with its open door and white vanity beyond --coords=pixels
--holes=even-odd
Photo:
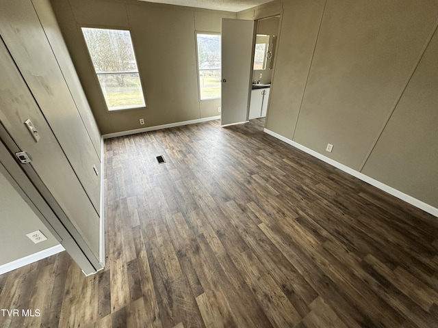
[[[256,20],[222,18],[222,126],[266,116],[280,20],[281,14]]]

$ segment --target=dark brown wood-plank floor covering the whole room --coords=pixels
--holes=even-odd
[[[438,219],[262,126],[106,140],[105,270],[0,276],[1,327],[438,327]]]

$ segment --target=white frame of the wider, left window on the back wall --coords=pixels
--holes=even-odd
[[[144,81],[142,79],[142,74],[140,74],[140,65],[139,65],[138,60],[137,60],[136,48],[135,48],[135,46],[133,44],[133,38],[132,38],[131,29],[129,29],[127,27],[120,27],[120,26],[101,26],[101,25],[77,25],[77,26],[79,28],[79,34],[81,34],[81,36],[82,36],[82,40],[83,40],[83,44],[85,46],[85,49],[86,49],[86,51],[88,53],[88,61],[90,62],[90,65],[92,67],[92,72],[94,73],[94,80],[96,81],[96,84],[99,87],[99,91],[100,91],[100,94],[101,94],[101,99],[103,101],[103,104],[105,104],[107,113],[116,113],[118,111],[133,111],[133,110],[138,110],[138,109],[146,109],[148,107],[148,105],[147,105],[147,99],[146,99],[146,92],[144,90]],[[83,28],[86,28],[86,29],[107,29],[107,30],[116,30],[116,31],[128,31],[129,32],[129,38],[131,40],[133,56],[134,56],[134,59],[136,61],[137,70],[136,71],[127,71],[127,72],[125,72],[125,71],[120,71],[120,72],[96,72],[96,68],[94,67],[92,55],[90,53],[90,49],[88,49],[88,44],[87,44],[87,41],[86,41],[85,34],[83,33]],[[101,82],[99,81],[99,75],[105,76],[105,75],[110,75],[110,74],[138,74],[138,79],[140,81],[140,91],[142,93],[144,105],[135,106],[135,107],[116,107],[114,109],[110,109],[110,107],[107,104],[107,100],[105,98],[105,94],[103,92],[103,87],[101,85]]]

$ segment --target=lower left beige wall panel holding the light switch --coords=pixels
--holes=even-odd
[[[32,182],[40,186],[40,192],[49,196],[47,202],[92,264],[94,269],[88,266],[85,272],[101,269],[99,215],[3,42],[0,42],[0,76],[0,123],[12,142],[3,137],[2,141],[10,152],[22,150],[30,155],[31,162],[21,165]],[[27,120],[36,132],[29,130]],[[65,248],[68,251],[68,245]],[[77,254],[70,255],[77,258]]]

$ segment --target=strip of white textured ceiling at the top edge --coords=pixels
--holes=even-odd
[[[186,7],[205,8],[213,10],[225,10],[227,12],[240,12],[256,5],[272,0],[140,0],[155,3],[167,3],[168,5],[183,5]]]

